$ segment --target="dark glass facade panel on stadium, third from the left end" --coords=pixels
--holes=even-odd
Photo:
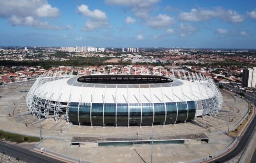
[[[91,104],[92,126],[103,126],[103,103]]]

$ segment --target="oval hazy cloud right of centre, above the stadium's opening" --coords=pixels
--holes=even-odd
[[[147,20],[147,25],[152,28],[164,28],[174,23],[174,19],[170,16],[159,14],[158,16],[150,17]]]

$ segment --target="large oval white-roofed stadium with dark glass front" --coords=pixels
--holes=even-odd
[[[157,75],[41,75],[28,92],[28,110],[73,125],[154,126],[216,115],[222,96],[212,79],[184,72]],[[180,73],[179,73],[180,75]]]

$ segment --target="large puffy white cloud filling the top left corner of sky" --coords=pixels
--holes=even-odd
[[[48,4],[47,0],[0,0],[0,16],[8,18],[14,25],[36,27],[38,29],[62,30],[42,18],[59,16],[59,9]]]

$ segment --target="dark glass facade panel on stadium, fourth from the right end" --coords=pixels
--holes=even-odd
[[[165,122],[165,103],[154,103],[154,125],[163,125]]]

